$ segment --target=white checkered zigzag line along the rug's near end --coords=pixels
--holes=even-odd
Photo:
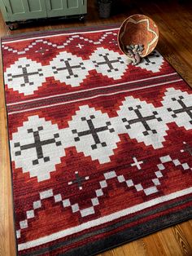
[[[152,179],[152,182],[154,183],[154,185],[150,188],[144,189],[141,183],[134,184],[132,179],[127,179],[127,180],[124,179],[124,175],[117,175],[115,170],[105,173],[104,179],[99,182],[100,188],[95,191],[96,196],[94,198],[91,198],[91,206],[84,210],[80,209],[80,206],[78,205],[78,203],[72,205],[70,202],[70,199],[62,200],[61,194],[54,195],[52,189],[48,191],[40,192],[39,200],[33,202],[33,210],[28,210],[26,212],[27,218],[24,219],[23,221],[20,221],[20,229],[24,229],[28,227],[28,218],[34,218],[35,217],[34,210],[41,208],[42,200],[49,198],[51,196],[54,196],[55,202],[62,202],[64,209],[70,206],[72,209],[72,213],[75,214],[76,212],[79,211],[81,213],[81,217],[86,217],[90,214],[94,214],[95,213],[94,206],[99,205],[99,197],[104,195],[103,189],[107,188],[108,186],[107,180],[109,179],[116,178],[119,183],[126,183],[128,188],[134,187],[137,192],[143,191],[146,194],[146,196],[154,194],[155,192],[158,192],[158,186],[161,184],[160,179],[164,177],[163,171],[164,170],[166,171],[165,164],[168,162],[172,162],[174,166],[181,165],[181,162],[178,159],[172,160],[170,156],[160,157],[159,160],[161,163],[157,165],[158,170],[155,171],[156,177],[155,179]],[[190,168],[190,166],[188,166],[187,163],[184,163],[181,166],[183,170],[188,170],[188,169],[192,170],[192,167]],[[16,233],[17,233],[17,238],[20,238],[20,230],[17,230]]]

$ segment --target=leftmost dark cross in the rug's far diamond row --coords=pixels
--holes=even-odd
[[[21,73],[18,75],[12,75],[11,73],[7,74],[8,81],[11,82],[13,81],[13,78],[18,78],[18,77],[23,77],[24,78],[24,83],[21,84],[20,86],[24,87],[26,84],[29,86],[33,86],[34,82],[29,82],[29,77],[38,75],[39,77],[43,76],[43,73],[41,73],[42,69],[38,68],[37,72],[28,72],[28,67],[30,67],[30,64],[26,65],[19,65],[18,68],[21,69]]]

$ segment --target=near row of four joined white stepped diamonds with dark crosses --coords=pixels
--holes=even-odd
[[[138,143],[143,142],[146,146],[152,145],[154,149],[163,148],[169,122],[175,121],[186,130],[192,129],[192,95],[174,88],[169,88],[168,92],[171,92],[173,104],[169,94],[165,92],[166,97],[162,102],[164,107],[160,108],[127,97],[117,111],[118,117],[113,118],[109,118],[107,113],[83,105],[72,116],[72,121],[68,121],[69,127],[63,130],[38,116],[28,117],[24,126],[13,134],[11,141],[15,165],[22,167],[24,172],[29,171],[30,177],[37,176],[38,181],[42,181],[50,179],[50,172],[55,171],[60,157],[65,156],[64,148],[75,146],[77,152],[83,152],[85,157],[90,156],[100,164],[111,161],[110,157],[114,155],[117,143],[120,142],[120,134],[128,134],[130,139],[137,139]],[[177,116],[170,115],[170,109]],[[26,139],[28,143],[24,144]],[[28,157],[27,166],[25,161],[21,161],[24,156]]]

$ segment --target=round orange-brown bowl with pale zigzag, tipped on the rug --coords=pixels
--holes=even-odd
[[[120,26],[118,45],[120,51],[127,54],[126,46],[142,44],[144,49],[141,57],[149,55],[159,40],[159,29],[155,22],[146,15],[129,16]]]

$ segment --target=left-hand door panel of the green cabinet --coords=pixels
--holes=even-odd
[[[3,0],[10,21],[30,20],[46,17],[44,0]]]

